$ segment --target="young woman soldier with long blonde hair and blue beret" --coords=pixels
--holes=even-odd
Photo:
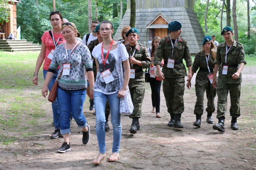
[[[209,79],[209,75],[211,78],[213,77],[213,68],[214,68],[214,60],[216,58],[216,52],[214,51],[214,43],[212,41],[211,36],[206,35],[204,37],[202,43],[202,50],[199,51],[195,55],[195,60],[192,66],[192,77],[194,73],[197,73],[195,91],[197,95],[197,101],[195,104],[194,114],[196,115],[196,121],[194,126],[200,128],[201,126],[201,117],[204,112],[204,92],[206,91],[207,98],[207,119],[206,122],[213,123],[211,119],[212,113],[215,111],[214,98],[216,96],[216,89],[212,86],[212,79]],[[217,77],[216,77],[217,79]],[[191,81],[187,82],[187,88],[191,87]]]

